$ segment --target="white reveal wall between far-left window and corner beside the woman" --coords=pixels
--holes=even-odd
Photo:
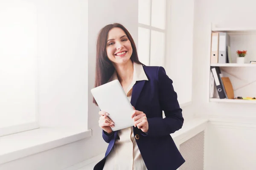
[[[87,1],[38,0],[41,127],[87,127]]]

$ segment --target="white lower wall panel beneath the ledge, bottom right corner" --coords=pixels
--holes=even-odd
[[[211,122],[206,170],[255,170],[256,125]]]

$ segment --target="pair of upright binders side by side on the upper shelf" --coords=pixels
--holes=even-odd
[[[211,63],[232,63],[230,36],[226,32],[212,32]]]

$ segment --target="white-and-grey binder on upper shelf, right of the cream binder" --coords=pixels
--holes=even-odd
[[[230,47],[230,36],[226,32],[219,33],[218,63],[227,63],[227,48]]]

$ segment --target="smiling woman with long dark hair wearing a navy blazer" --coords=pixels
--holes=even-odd
[[[119,23],[99,32],[96,57],[95,87],[118,79],[134,106],[134,126],[113,132],[114,122],[99,111],[99,127],[109,144],[94,170],[176,170],[185,160],[170,133],[184,119],[165,69],[143,65],[131,34]]]

